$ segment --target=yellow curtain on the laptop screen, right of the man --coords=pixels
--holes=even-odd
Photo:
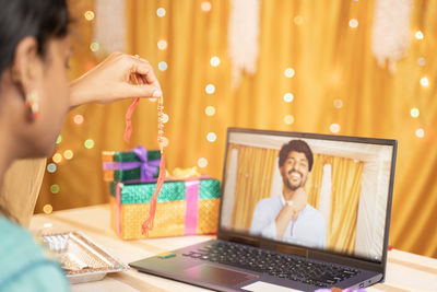
[[[353,253],[356,238],[363,162],[332,156],[331,211],[328,220],[327,247]]]

